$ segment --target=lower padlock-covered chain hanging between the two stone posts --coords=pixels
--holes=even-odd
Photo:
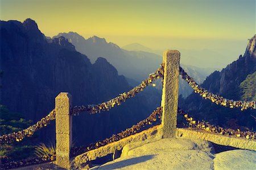
[[[139,130],[141,130],[146,125],[151,125],[152,122],[156,122],[157,119],[160,119],[160,115],[162,114],[162,107],[157,107],[156,110],[154,110],[149,117],[144,119],[143,121],[140,121],[137,123],[137,125],[132,126],[131,128],[127,128],[125,131],[120,132],[117,135],[113,135],[110,138],[107,138],[105,140],[98,141],[96,143],[91,143],[89,146],[77,146],[71,148],[72,155],[79,155],[84,152],[94,150],[96,148],[106,146],[107,144],[117,142],[118,140],[121,140],[123,138],[126,138],[130,135],[136,134]]]

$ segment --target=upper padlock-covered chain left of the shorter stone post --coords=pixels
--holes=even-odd
[[[46,117],[42,118],[40,121],[36,122],[35,125],[32,125],[22,131],[12,132],[11,134],[6,134],[0,136],[0,143],[11,143],[11,142],[20,142],[26,136],[34,135],[35,131],[39,130],[42,127],[45,127],[55,119],[55,109],[53,109]]]

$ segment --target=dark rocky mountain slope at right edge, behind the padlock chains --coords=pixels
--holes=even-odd
[[[240,100],[241,89],[239,85],[245,80],[248,74],[256,71],[256,35],[249,40],[245,54],[238,60],[229,64],[221,72],[213,72],[206,78],[201,86],[209,92],[219,94],[228,99]],[[197,118],[204,119],[211,123],[217,123],[222,126],[229,125],[246,126],[256,128],[254,118],[255,110],[240,111],[240,109],[229,109],[218,106],[210,101],[205,101],[198,94],[191,94],[185,101],[180,101],[183,109],[192,113]]]

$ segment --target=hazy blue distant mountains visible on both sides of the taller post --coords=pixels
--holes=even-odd
[[[88,56],[92,62],[100,56],[106,58],[117,68],[118,73],[126,76],[127,80],[133,82],[132,84],[136,81],[141,82],[144,78],[147,78],[148,74],[154,72],[159,67],[159,64],[162,63],[162,56],[152,53],[150,48],[138,43],[133,44],[133,46],[138,45],[139,47],[137,49],[143,48],[147,51],[129,51],[118,47],[117,44],[106,42],[104,38],[92,36],[91,38],[85,39],[76,32],[60,33],[57,36],[53,36],[53,38],[60,36],[68,39],[70,43],[75,45],[77,51]],[[200,69],[188,67],[187,65],[182,65],[182,67],[199,83],[203,82],[213,72],[212,69]],[[187,97],[191,92],[192,89],[181,80],[179,93],[183,97]]]

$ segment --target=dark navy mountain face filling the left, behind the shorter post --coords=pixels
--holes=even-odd
[[[71,93],[73,105],[86,105],[131,89],[106,59],[91,64],[64,37],[46,38],[31,19],[1,21],[1,70],[1,104],[34,122],[55,107],[60,92]],[[138,95],[106,113],[74,117],[76,144],[104,139],[146,118],[160,103],[148,105],[143,97]],[[39,132],[45,142],[54,140],[53,125]]]

